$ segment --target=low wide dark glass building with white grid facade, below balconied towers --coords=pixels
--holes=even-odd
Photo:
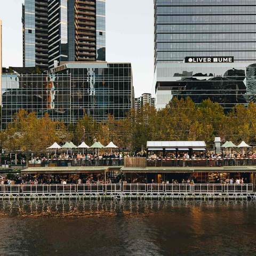
[[[66,63],[49,74],[3,74],[2,85],[3,128],[19,109],[76,123],[85,114],[122,119],[133,107],[130,63]]]

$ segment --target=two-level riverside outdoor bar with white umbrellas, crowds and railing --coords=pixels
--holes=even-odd
[[[204,141],[148,141],[145,153],[134,154],[113,142],[106,147],[99,141],[54,142],[46,154],[31,153],[22,166],[15,155],[6,177],[0,177],[0,197],[256,199],[253,148],[244,141],[214,142],[207,150]]]

